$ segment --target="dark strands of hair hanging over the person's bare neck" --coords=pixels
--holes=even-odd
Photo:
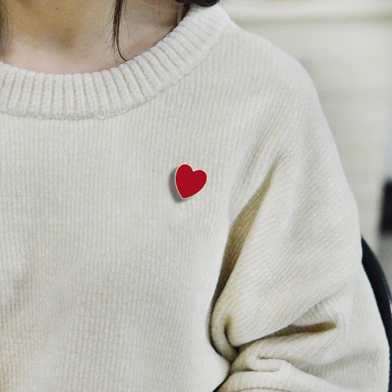
[[[114,7],[114,17],[113,17],[113,35],[112,35],[112,49],[115,47],[118,50],[119,55],[124,61],[127,61],[123,58],[123,55],[120,51],[120,44],[119,44],[119,30],[120,30],[120,23],[121,23],[121,12],[123,10],[123,1],[124,0],[116,0],[115,7]],[[220,0],[175,0],[177,3],[183,3],[186,5],[196,4],[201,7],[212,7],[213,5],[217,4]],[[5,21],[5,23],[4,23]],[[4,35],[5,28],[7,26],[7,14],[5,4],[2,0],[0,0],[0,39]],[[1,51],[0,56],[3,54],[5,46],[1,44]]]

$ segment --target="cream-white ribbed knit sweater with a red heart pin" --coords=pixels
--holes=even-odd
[[[309,74],[221,5],[110,71],[0,63],[1,392],[387,392],[361,258]]]

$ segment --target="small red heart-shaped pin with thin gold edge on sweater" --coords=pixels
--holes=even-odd
[[[199,193],[207,182],[207,173],[196,170],[184,163],[175,171],[175,186],[183,199]]]

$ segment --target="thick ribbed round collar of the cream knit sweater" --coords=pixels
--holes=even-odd
[[[151,49],[100,72],[36,73],[0,61],[0,112],[70,120],[121,114],[190,73],[229,21],[220,4],[192,4],[177,27]]]

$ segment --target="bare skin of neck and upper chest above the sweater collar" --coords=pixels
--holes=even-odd
[[[92,73],[124,63],[111,47],[115,0],[3,1],[8,28],[0,61],[53,74]],[[169,34],[177,25],[177,6],[174,0],[124,0],[123,57],[130,60]]]

